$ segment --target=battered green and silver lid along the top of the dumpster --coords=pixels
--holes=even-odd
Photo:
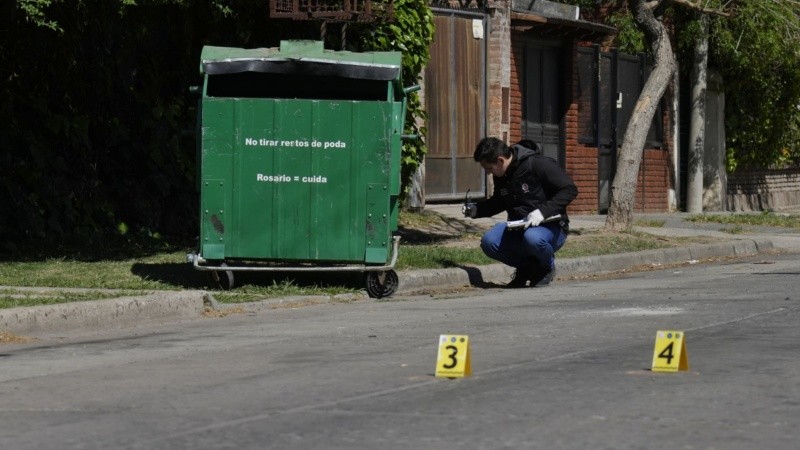
[[[325,50],[322,41],[281,41],[280,48],[255,49],[207,45],[200,60],[200,73],[207,75],[263,72],[390,81],[401,70],[399,52]]]

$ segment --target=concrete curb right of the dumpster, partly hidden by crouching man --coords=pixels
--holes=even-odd
[[[740,239],[692,247],[671,247],[615,255],[558,259],[559,278],[603,274],[653,264],[675,264],[708,258],[752,256],[774,248],[769,239]],[[484,283],[505,284],[514,270],[504,264],[466,266],[454,269],[414,270],[399,274],[398,294],[413,294],[431,288],[480,286]]]

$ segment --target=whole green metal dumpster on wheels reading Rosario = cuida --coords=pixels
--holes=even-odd
[[[188,259],[217,287],[237,271],[361,271],[398,285],[406,94],[398,52],[203,48],[200,235]]]

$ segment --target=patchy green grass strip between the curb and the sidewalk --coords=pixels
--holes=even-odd
[[[800,228],[800,217],[772,213],[704,214],[691,216],[687,220]],[[663,226],[663,222],[640,222],[639,225],[658,227]],[[435,239],[421,239],[418,243],[401,243],[396,267],[398,271],[494,263],[478,247],[480,233],[465,227],[458,219],[429,212],[403,213],[401,227],[404,226],[421,229],[423,237],[425,230],[435,229],[438,234],[435,234]],[[463,231],[458,231],[459,229]],[[447,230],[449,234],[441,237],[442,230]],[[665,238],[637,231],[609,233],[575,230],[559,251],[558,258],[627,253],[712,241],[713,239],[705,237]],[[170,248],[147,252],[138,257],[129,255],[92,257],[84,253],[72,259],[42,257],[3,261],[0,262],[0,286],[120,289],[134,293],[151,290],[206,289],[206,274],[195,271],[186,262],[185,255],[185,250]],[[363,277],[364,274],[360,272],[237,272],[235,278],[237,286],[240,287],[227,292],[215,291],[214,295],[220,301],[227,303],[286,296],[333,296],[360,291],[364,287]],[[34,295],[7,288],[0,290],[0,308],[97,300],[122,295],[131,294],[55,291]]]

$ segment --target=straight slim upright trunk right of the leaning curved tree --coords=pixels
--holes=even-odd
[[[708,68],[708,16],[698,13],[701,35],[694,47],[692,66],[692,121],[689,126],[689,164],[686,211],[703,212],[703,153],[706,137],[706,78]]]

